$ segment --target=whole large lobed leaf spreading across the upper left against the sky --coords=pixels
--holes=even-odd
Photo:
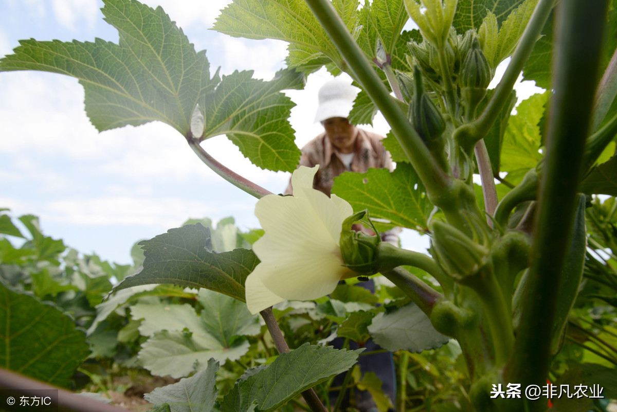
[[[118,44],[20,41],[0,70],[41,70],[78,78],[86,113],[99,131],[159,120],[192,136],[191,118],[199,104],[209,138],[228,134],[251,162],[270,170],[292,171],[300,150],[289,125],[293,103],[280,93],[302,88],[301,73],[285,70],[273,81],[251,78],[252,71],[210,77],[205,51],[196,52],[161,7],[138,1],[104,1],[107,23]],[[200,123],[201,124],[201,123]]]

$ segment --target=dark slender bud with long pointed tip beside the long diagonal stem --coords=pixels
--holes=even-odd
[[[409,104],[409,119],[424,142],[436,141],[445,131],[444,118],[428,94],[424,93],[422,75],[416,66],[413,70],[415,93]]]

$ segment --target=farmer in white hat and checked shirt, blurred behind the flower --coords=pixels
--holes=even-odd
[[[368,168],[394,169],[390,154],[381,144],[383,136],[357,128],[349,122],[349,113],[354,105],[358,89],[348,81],[335,78],[321,86],[318,93],[319,106],[315,115],[315,122],[321,122],[324,132],[302,147],[302,156],[299,166],[314,167],[320,165],[313,187],[330,196],[334,178],[344,171],[366,172]],[[292,193],[291,180],[285,194]],[[362,225],[354,225],[355,230],[362,230],[368,234],[375,234],[371,229]],[[398,245],[400,228],[394,228],[381,234],[383,241]],[[375,292],[373,279],[360,282],[359,286]],[[341,347],[342,338],[333,341],[335,347]],[[365,342],[366,352],[381,349],[372,340]],[[353,347],[352,347],[353,348]],[[395,400],[395,377],[392,354],[389,352],[375,355],[360,356],[358,361],[362,373],[372,371],[382,382],[382,389]],[[344,374],[336,377],[333,387],[342,383]],[[331,402],[336,401],[333,394]],[[348,397],[349,394],[347,394]],[[368,391],[354,391],[355,406],[360,412],[377,412],[375,401]],[[346,400],[349,403],[349,400]]]

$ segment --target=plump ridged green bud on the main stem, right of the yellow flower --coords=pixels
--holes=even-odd
[[[437,262],[453,279],[461,281],[478,273],[488,260],[489,249],[465,233],[442,221],[434,221],[432,249]]]

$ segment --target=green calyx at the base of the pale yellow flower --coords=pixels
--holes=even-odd
[[[370,236],[366,233],[352,230],[352,226],[364,216],[368,220],[368,211],[355,213],[343,221],[341,230],[341,258],[344,266],[358,274],[369,275],[379,271],[378,247],[379,235]],[[370,223],[370,221],[369,221]],[[376,229],[373,228],[375,233]]]

